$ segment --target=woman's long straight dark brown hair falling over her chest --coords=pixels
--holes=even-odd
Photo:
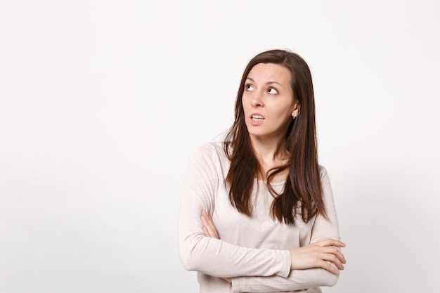
[[[271,207],[273,219],[278,219],[280,223],[294,223],[299,206],[302,220],[305,222],[317,213],[327,218],[318,167],[311,72],[301,56],[285,50],[259,53],[250,60],[242,74],[235,100],[235,121],[226,134],[224,143],[224,150],[231,161],[225,182],[230,187],[229,200],[242,214],[251,216],[254,178],[261,168],[254,155],[245,124],[242,95],[247,74],[258,63],[273,63],[286,67],[291,73],[292,98],[299,103],[299,115],[292,119],[285,136],[285,148],[290,153],[290,158],[286,164],[275,167],[266,174],[268,190],[275,197]],[[285,169],[289,170],[289,176],[282,193],[278,194],[273,190],[271,179]]]

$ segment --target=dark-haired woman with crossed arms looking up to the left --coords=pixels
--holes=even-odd
[[[345,245],[318,165],[311,73],[297,54],[250,60],[225,141],[190,160],[179,246],[200,292],[311,293],[337,282]]]

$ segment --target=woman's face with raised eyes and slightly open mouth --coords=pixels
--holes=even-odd
[[[286,67],[273,63],[258,63],[247,74],[242,106],[252,139],[285,139],[292,115],[296,116],[298,109],[290,79]]]

